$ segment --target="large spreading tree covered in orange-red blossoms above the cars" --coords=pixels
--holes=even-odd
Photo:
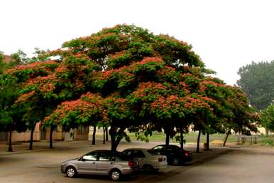
[[[16,104],[33,108],[26,116],[41,111],[37,119],[48,126],[108,125],[111,150],[126,128],[163,128],[167,137],[175,127],[202,130],[225,98],[208,95],[221,84],[190,45],[136,26],[104,28],[45,56],[55,61],[6,72],[25,83]]]

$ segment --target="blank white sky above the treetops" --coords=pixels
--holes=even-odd
[[[0,51],[52,50],[104,27],[135,24],[190,43],[233,85],[240,66],[274,59],[273,9],[271,0],[0,0]]]

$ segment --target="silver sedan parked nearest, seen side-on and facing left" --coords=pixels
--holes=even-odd
[[[109,175],[117,181],[124,174],[136,174],[138,164],[121,152],[112,153],[111,150],[95,150],[80,158],[62,162],[61,172],[67,177],[75,177],[77,174]]]

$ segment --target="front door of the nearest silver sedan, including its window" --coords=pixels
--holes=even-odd
[[[97,168],[99,152],[89,152],[80,158],[78,163],[78,173],[95,174]]]

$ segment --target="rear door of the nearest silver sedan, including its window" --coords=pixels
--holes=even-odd
[[[109,174],[111,167],[114,167],[114,156],[111,152],[100,152],[97,162],[97,174]]]

